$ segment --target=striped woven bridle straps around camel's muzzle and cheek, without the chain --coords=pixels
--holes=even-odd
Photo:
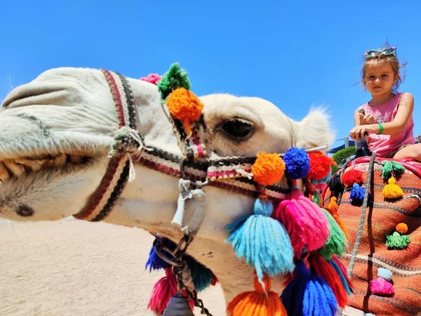
[[[138,114],[128,80],[119,73],[101,71],[114,99],[119,126],[114,135],[115,143],[110,151],[107,171],[86,206],[74,214],[75,218],[93,222],[106,218],[133,173],[133,162],[177,178],[201,181],[241,195],[258,197],[258,185],[250,177],[250,167],[256,157],[206,158],[206,148],[197,133],[185,142],[182,141],[187,135],[180,121],[176,119],[173,119],[173,131],[184,157],[175,156],[157,147],[145,146],[142,135],[138,132]],[[203,117],[195,127],[196,131],[206,129]],[[290,188],[268,185],[266,190],[269,199],[280,202],[285,199]]]

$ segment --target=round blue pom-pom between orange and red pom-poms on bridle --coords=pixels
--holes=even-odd
[[[305,178],[310,170],[310,158],[305,149],[291,147],[283,154],[285,176],[290,180]]]

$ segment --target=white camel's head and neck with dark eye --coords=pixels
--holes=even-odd
[[[181,157],[156,85],[127,80],[145,147]],[[213,158],[312,148],[330,145],[334,139],[321,109],[294,121],[262,98],[210,94],[200,99],[206,125],[201,138],[207,140],[206,150]],[[118,125],[115,99],[101,70],[48,70],[11,91],[0,109],[0,217],[60,220],[79,213],[107,171]],[[135,163],[134,169],[134,180],[104,221],[158,232],[178,242],[182,232],[171,224],[178,178],[144,164]],[[255,197],[212,185],[203,190],[206,216],[188,252],[217,275],[228,302],[253,289],[253,268],[225,242],[225,225],[250,213]],[[275,278],[272,289],[281,292],[281,283]]]

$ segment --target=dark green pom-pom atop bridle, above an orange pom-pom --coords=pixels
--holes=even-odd
[[[161,80],[156,85],[161,93],[161,99],[166,100],[168,95],[176,88],[185,88],[190,90],[190,81],[187,78],[187,72],[180,68],[178,62],[173,63],[170,69],[163,74]]]

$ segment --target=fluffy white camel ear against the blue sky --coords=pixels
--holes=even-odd
[[[312,148],[328,145],[335,140],[335,132],[330,131],[330,116],[322,108],[310,110],[307,117],[295,124],[296,144],[298,148]]]

